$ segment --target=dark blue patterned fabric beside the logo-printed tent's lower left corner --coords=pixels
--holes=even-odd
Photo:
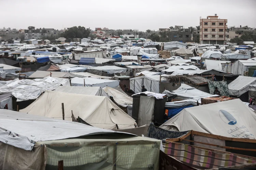
[[[150,125],[148,128],[147,136],[150,138],[155,139],[166,139],[166,138],[178,138],[185,135],[188,131],[184,132],[175,132],[175,131],[168,131],[162,128],[158,128],[157,126]]]

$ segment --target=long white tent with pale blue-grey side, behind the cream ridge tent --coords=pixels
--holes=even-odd
[[[96,87],[112,87],[115,88],[119,86],[118,80],[106,80],[106,79],[95,79],[95,78],[79,78],[75,77],[71,79],[72,86],[96,86]]]

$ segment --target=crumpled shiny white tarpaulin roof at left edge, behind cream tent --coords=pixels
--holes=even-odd
[[[0,94],[12,93],[17,102],[37,99],[45,90],[54,90],[59,85],[69,86],[68,79],[46,77],[38,80],[15,79],[0,87]]]

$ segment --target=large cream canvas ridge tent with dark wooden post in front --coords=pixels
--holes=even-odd
[[[104,96],[47,90],[38,100],[20,112],[62,119],[61,103],[64,103],[65,120],[72,121],[73,113],[74,117],[79,116],[90,125],[103,129],[129,129],[136,125],[134,119]]]

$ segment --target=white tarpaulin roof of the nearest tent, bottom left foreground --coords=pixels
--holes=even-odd
[[[61,106],[60,106],[61,107]],[[31,151],[35,142],[75,138],[81,136],[118,133],[107,129],[43,116],[1,109],[0,141]]]

